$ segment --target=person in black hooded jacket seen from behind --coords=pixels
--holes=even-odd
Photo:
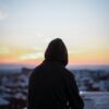
[[[51,40],[45,60],[34,69],[28,83],[27,109],[83,109],[74,75],[65,69],[68,50],[60,38]]]

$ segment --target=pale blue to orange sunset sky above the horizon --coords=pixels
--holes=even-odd
[[[57,37],[69,64],[109,65],[109,0],[0,0],[0,64],[39,64]]]

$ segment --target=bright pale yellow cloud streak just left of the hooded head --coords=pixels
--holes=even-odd
[[[34,53],[27,53],[20,57],[21,60],[27,60],[27,59],[39,59],[43,58],[43,52],[34,52]]]

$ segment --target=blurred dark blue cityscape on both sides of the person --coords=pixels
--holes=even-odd
[[[69,69],[74,74],[81,93],[109,93],[109,70]],[[25,109],[27,107],[28,78],[32,71],[33,68],[20,66],[9,69],[9,71],[8,69],[0,70],[0,109]],[[85,98],[84,95],[82,96]],[[109,109],[109,107],[99,109]]]

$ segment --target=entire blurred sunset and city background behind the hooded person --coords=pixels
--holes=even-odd
[[[109,109],[109,0],[0,0],[0,109],[25,109],[33,69],[63,39],[85,109]]]

